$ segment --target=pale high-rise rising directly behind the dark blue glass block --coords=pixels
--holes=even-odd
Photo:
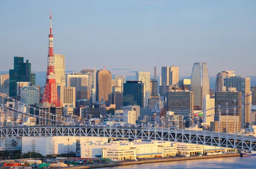
[[[150,98],[150,72],[136,72],[136,80],[144,84],[144,107],[148,107]]]

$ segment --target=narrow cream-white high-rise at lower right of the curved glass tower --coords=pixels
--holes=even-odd
[[[210,125],[211,121],[214,121],[214,114],[215,114],[215,99],[210,98],[210,95],[204,95],[204,123]]]

